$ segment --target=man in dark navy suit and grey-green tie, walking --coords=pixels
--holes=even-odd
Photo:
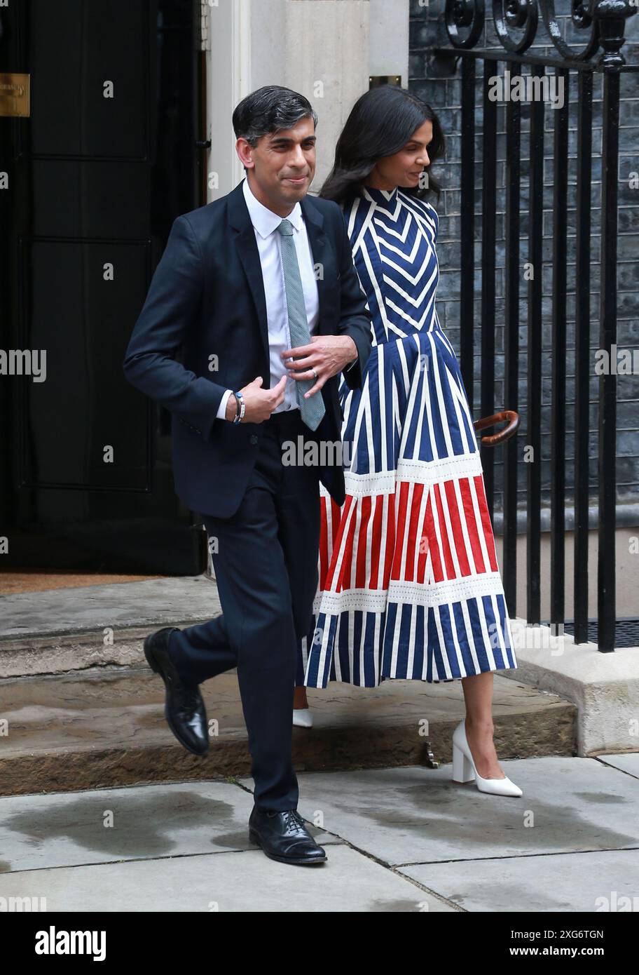
[[[301,864],[326,856],[296,811],[297,646],[319,582],[320,482],[345,499],[339,377],[361,385],[371,343],[342,213],[306,195],[317,122],[306,98],[278,86],[240,102],[233,127],[246,178],[174,221],[125,359],[132,384],[172,414],[175,489],[204,516],[222,604],[204,625],[145,641],[169,727],[204,755],[199,684],[237,666],[254,781],[249,837]],[[291,443],[292,465],[282,463]]]

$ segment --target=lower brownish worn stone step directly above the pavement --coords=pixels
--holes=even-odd
[[[203,684],[208,720],[217,723],[201,759],[169,731],[164,684],[139,663],[141,634],[125,644],[125,666],[92,667],[86,657],[83,671],[0,680],[0,795],[249,774],[237,675]],[[32,663],[34,673],[37,657]],[[314,727],[293,728],[299,771],[449,762],[465,714],[460,682],[332,683],[310,690],[309,701]],[[574,754],[577,709],[555,694],[498,675],[493,715],[501,759]]]

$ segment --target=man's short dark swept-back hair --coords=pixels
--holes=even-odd
[[[236,138],[245,138],[249,145],[257,145],[262,136],[292,129],[300,119],[312,118],[318,125],[318,116],[307,98],[280,85],[265,85],[243,98],[233,112],[233,129]]]

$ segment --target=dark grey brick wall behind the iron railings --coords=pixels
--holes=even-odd
[[[447,151],[444,160],[437,163],[434,171],[442,183],[443,191],[439,202],[432,199],[432,203],[439,213],[439,238],[437,254],[440,264],[440,285],[438,291],[437,311],[443,329],[445,329],[453,346],[459,354],[460,347],[460,153],[461,153],[461,65],[458,62],[456,78],[433,77],[432,48],[440,45],[450,47],[443,19],[444,0],[430,0],[428,7],[420,6],[419,0],[411,0],[410,11],[410,66],[408,87],[420,98],[432,105],[437,113],[447,140]],[[569,5],[557,3],[556,10],[566,11]],[[563,18],[564,36],[571,39],[569,18]],[[639,16],[634,16],[626,22],[626,44],[623,53],[627,63],[639,64]],[[488,16],[484,29],[484,36],[477,47],[491,48],[504,51],[497,41],[492,17]],[[557,57],[557,52],[547,38],[545,25],[540,15],[540,26],[537,32],[536,44],[532,52],[544,52],[549,57]],[[551,71],[550,68],[547,69]],[[483,61],[477,62],[477,89],[475,104],[475,163],[476,163],[476,199],[477,219],[475,222],[475,322],[479,323],[480,289],[481,289],[481,150],[482,150],[482,113],[481,113],[481,76]],[[500,73],[504,73],[504,62],[500,63]],[[514,73],[514,71],[512,72]],[[529,73],[529,68],[517,68],[518,74]],[[598,231],[601,216],[601,75],[594,79],[594,111],[593,111],[593,188],[592,188],[592,260],[591,260],[591,365],[592,379],[590,383],[590,490],[593,495],[597,488],[597,394],[598,377],[594,372],[594,356],[598,346],[598,312],[599,312],[599,239]],[[577,83],[575,74],[571,74],[570,84],[570,123],[569,123],[569,188],[568,188],[568,360],[567,360],[567,504],[571,505],[574,487],[574,376],[575,376],[575,194],[577,181],[576,167],[576,139],[577,139]],[[543,501],[549,503],[550,485],[550,323],[551,323],[551,284],[552,284],[552,125],[554,111],[546,107],[545,110],[545,175],[544,175],[544,372],[543,372]],[[530,106],[522,102],[522,186],[521,186],[521,251],[520,265],[528,260],[528,132],[530,129]],[[497,329],[496,329],[496,407],[508,407],[504,403],[504,263],[505,263],[505,158],[506,158],[506,106],[498,103],[498,168],[497,168]],[[620,103],[620,212],[619,212],[619,275],[618,275],[618,346],[636,350],[639,348],[639,189],[631,189],[628,185],[630,173],[639,173],[639,73],[621,75],[621,103]],[[528,443],[526,435],[526,343],[527,343],[527,288],[528,283],[522,277],[520,281],[520,321],[519,331],[519,412],[521,426],[518,434],[518,448],[523,456],[524,445]],[[479,404],[479,375],[481,370],[479,329],[475,331],[475,369],[474,369],[474,416],[480,415]],[[496,456],[496,510],[501,508],[502,497],[502,456],[497,448]],[[618,376],[618,440],[617,440],[617,476],[618,500],[635,504],[639,502],[639,374]],[[522,462],[519,465],[519,503],[525,499],[526,469]]]

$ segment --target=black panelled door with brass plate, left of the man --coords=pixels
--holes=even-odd
[[[206,203],[200,5],[22,0],[0,28],[29,89],[0,117],[2,565],[196,574],[169,413],[122,363],[173,219]]]

